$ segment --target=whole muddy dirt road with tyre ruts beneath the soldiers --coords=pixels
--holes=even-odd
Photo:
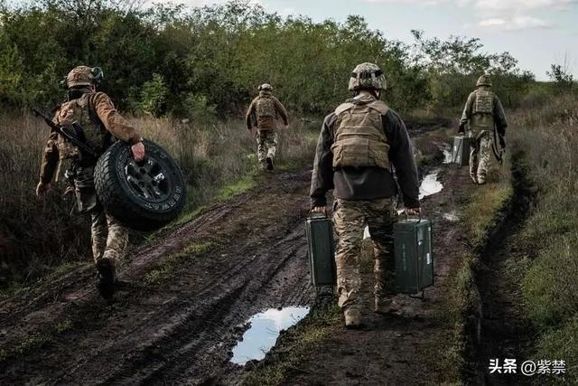
[[[423,202],[433,221],[435,286],[424,300],[396,297],[402,315],[384,317],[370,312],[365,280],[366,327],[341,328],[288,384],[432,381],[436,340],[446,333],[435,321],[467,248],[459,208],[473,189],[465,168],[440,167],[443,191]],[[248,317],[312,304],[310,175],[263,175],[256,189],[134,250],[112,302],[98,297],[89,263],[2,301],[0,384],[237,382],[243,368],[229,360]]]

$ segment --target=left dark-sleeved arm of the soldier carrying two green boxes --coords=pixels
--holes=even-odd
[[[333,189],[333,154],[331,144],[333,138],[331,127],[335,124],[335,114],[329,115],[323,121],[322,132],[317,140],[315,161],[311,177],[311,207],[327,205],[325,194]]]

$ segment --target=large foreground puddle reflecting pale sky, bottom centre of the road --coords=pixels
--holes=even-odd
[[[245,364],[247,361],[260,361],[271,350],[279,333],[296,325],[309,314],[309,307],[269,308],[253,315],[247,323],[251,326],[233,349],[231,362]]]

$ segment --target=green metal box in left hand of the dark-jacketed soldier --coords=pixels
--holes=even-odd
[[[312,214],[307,219],[306,232],[313,286],[335,286],[337,273],[331,219],[322,214]]]

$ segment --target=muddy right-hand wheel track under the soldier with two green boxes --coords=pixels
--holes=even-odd
[[[443,337],[447,325],[440,315],[448,301],[450,272],[459,265],[467,249],[459,220],[460,208],[473,189],[466,168],[442,165],[438,174],[444,188],[424,197],[424,218],[433,221],[435,285],[425,289],[424,299],[396,296],[397,311],[376,315],[373,306],[371,258],[362,262],[363,299],[360,330],[346,330],[342,325],[331,338],[306,353],[299,368],[289,373],[283,384],[434,384],[443,381],[438,362],[446,353]],[[447,220],[453,212],[458,220]],[[279,347],[280,356],[288,347]],[[275,355],[272,355],[275,358]],[[275,359],[272,359],[275,361]],[[266,360],[267,361],[267,360]]]

